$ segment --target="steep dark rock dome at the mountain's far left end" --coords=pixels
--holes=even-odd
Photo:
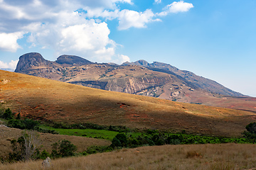
[[[20,72],[31,67],[46,66],[46,64],[47,60],[45,60],[41,54],[38,52],[30,52],[19,57],[15,72]]]

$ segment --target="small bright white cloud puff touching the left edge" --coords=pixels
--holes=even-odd
[[[16,52],[18,48],[21,48],[18,45],[17,40],[23,37],[22,32],[17,33],[0,33],[0,50]]]

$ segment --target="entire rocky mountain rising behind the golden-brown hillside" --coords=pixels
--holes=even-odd
[[[107,91],[256,112],[253,98],[161,62],[139,60],[118,65],[93,63],[73,55],[50,62],[33,52],[20,57],[15,72]]]

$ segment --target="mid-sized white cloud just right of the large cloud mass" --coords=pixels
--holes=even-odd
[[[153,19],[155,14],[151,9],[146,9],[144,12],[130,11],[124,9],[119,12],[119,30],[126,30],[128,28],[146,28],[146,23],[153,21],[160,21],[159,19]]]

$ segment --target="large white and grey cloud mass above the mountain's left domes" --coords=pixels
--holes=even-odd
[[[0,21],[3,21],[0,22],[0,33],[3,32],[0,34],[0,50],[16,52],[21,47],[17,40],[28,33],[30,47],[53,48],[56,57],[65,53],[110,62],[118,55],[115,54],[116,43],[109,38],[107,23],[85,18],[85,14],[77,10],[87,8],[97,13],[105,8],[115,8],[116,3],[132,4],[132,1],[0,1]],[[106,17],[110,18],[111,13],[116,18],[114,11],[105,13]]]

